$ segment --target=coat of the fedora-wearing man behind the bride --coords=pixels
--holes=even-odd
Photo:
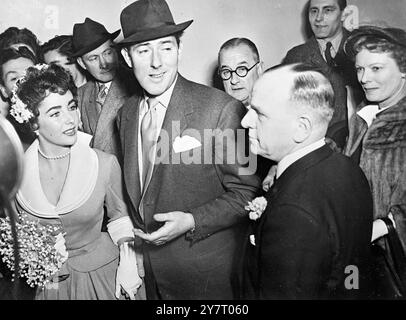
[[[114,77],[100,115],[97,113],[97,84],[88,81],[78,89],[78,102],[83,131],[93,135],[91,147],[114,154],[121,160],[120,141],[116,126],[117,112],[136,88],[130,72],[119,68]]]

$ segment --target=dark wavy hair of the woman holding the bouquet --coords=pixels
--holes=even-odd
[[[32,130],[38,129],[39,104],[50,94],[61,95],[70,91],[74,98],[77,97],[77,88],[71,74],[64,68],[51,64],[45,67],[29,67],[25,77],[17,84],[16,94],[27,108],[33,113],[30,119]]]

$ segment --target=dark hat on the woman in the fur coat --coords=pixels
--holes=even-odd
[[[361,26],[355,29],[344,43],[344,52],[351,59],[354,59],[357,52],[355,44],[359,39],[372,36],[377,39],[385,39],[393,44],[406,48],[406,32],[398,28],[380,28],[377,26]]]

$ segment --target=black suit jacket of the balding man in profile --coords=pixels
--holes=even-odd
[[[372,199],[351,160],[321,147],[289,166],[266,198],[256,246],[247,249],[253,291],[245,297],[354,298],[368,290]],[[345,289],[349,265],[358,267],[359,290]]]

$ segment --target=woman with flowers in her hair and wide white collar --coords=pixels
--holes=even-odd
[[[12,101],[10,114],[37,135],[25,152],[16,207],[61,229],[55,248],[67,256],[36,298],[134,299],[142,281],[121,169],[115,156],[90,148],[91,136],[78,131],[72,77],[57,65],[30,67]],[[104,210],[108,233],[101,232]]]

